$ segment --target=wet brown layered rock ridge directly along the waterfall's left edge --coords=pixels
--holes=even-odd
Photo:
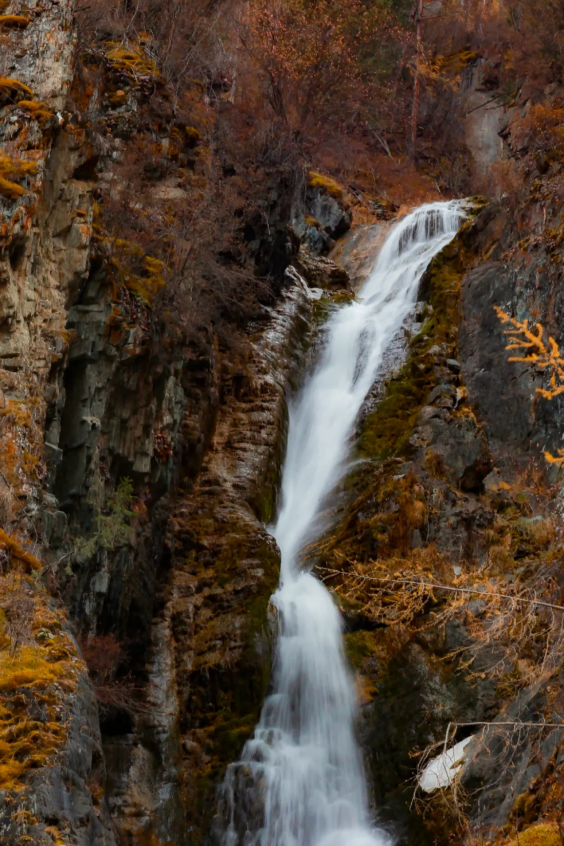
[[[110,808],[123,838],[149,830],[180,842],[186,820],[192,838],[203,836],[217,780],[255,727],[270,674],[268,600],[279,574],[265,523],[276,503],[287,386],[304,361],[310,311],[304,283],[288,275],[270,319],[223,380],[200,474],[172,507],[167,578],[145,656],[151,711],[135,720],[133,743],[129,736],[107,743],[116,784]]]

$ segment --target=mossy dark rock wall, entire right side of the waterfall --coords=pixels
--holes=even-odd
[[[521,815],[525,825],[550,817],[550,790],[557,792],[550,785],[562,779],[561,729],[507,726],[559,722],[548,697],[561,689],[560,659],[550,659],[550,684],[529,682],[539,678],[532,641],[513,651],[509,628],[496,643],[478,634],[479,621],[492,619],[480,591],[540,593],[550,584],[545,598],[557,602],[562,590],[558,542],[528,528],[559,513],[558,465],[541,458],[547,445],[556,454],[561,438],[559,400],[537,393],[550,387],[544,368],[508,361],[507,324],[494,309],[521,322],[534,314],[544,337],[561,344],[554,310],[561,286],[542,246],[534,261],[509,251],[516,231],[507,210],[492,204],[431,262],[419,293],[427,305],[417,307],[405,357],[379,401],[366,405],[359,426],[364,464],[346,483],[349,504],[312,552],[322,567],[340,571],[352,566],[440,585],[461,574],[461,584],[483,583],[445,617],[448,594],[429,596],[416,612],[409,611],[413,593],[404,594],[400,583],[378,591],[372,605],[370,583],[342,576],[333,582],[364,690],[360,731],[375,806],[404,842],[441,841],[457,824],[438,797],[422,823],[409,810],[414,785],[406,787],[413,753],[442,743],[449,722],[459,726],[457,740],[476,732],[476,722],[491,722],[485,742],[478,731],[468,746],[461,772],[468,830],[492,838],[501,827],[523,825]],[[539,267],[542,284],[535,286]],[[530,677],[519,674],[520,660],[531,662]]]

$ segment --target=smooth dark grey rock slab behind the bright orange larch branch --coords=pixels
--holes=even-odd
[[[534,209],[528,213],[528,228],[534,230],[538,212]],[[531,321],[531,316],[536,316],[545,336],[555,338],[561,348],[564,302],[555,255],[550,255],[549,245],[538,244],[534,253],[527,251],[512,261],[501,261],[503,250],[512,243],[514,224],[501,206],[494,206],[490,215],[491,225],[501,237],[490,260],[468,274],[463,288],[463,375],[496,457],[507,460],[510,454],[521,457],[527,453],[540,457],[543,450],[555,452],[561,443],[561,398],[543,398],[537,391],[550,387],[550,374],[534,365],[508,360],[507,326],[501,324],[494,307],[517,321]]]

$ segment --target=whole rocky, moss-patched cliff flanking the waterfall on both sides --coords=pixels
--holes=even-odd
[[[227,75],[179,97],[151,33],[77,25],[73,0],[0,7],[0,835],[205,843],[268,688],[287,392],[398,209],[265,154]],[[476,184],[516,155],[526,111],[472,112]],[[406,840],[545,826],[556,843],[559,168],[539,157],[518,203],[468,203],[312,551],[348,627],[375,806]],[[480,740],[486,722],[512,728]],[[417,814],[413,753],[449,723],[474,737],[461,793]]]

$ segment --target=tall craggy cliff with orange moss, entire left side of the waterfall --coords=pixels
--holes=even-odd
[[[14,780],[0,761],[0,830],[10,844],[59,834],[96,846],[201,842],[270,671],[279,554],[265,524],[311,323],[306,283],[285,275],[299,245],[287,225],[293,184],[271,168],[256,187],[260,214],[241,222],[245,261],[262,278],[244,277],[260,292],[252,308],[239,292],[233,321],[216,313],[219,331],[209,316],[189,331],[157,318],[162,262],[145,255],[132,270],[139,247],[129,232],[119,237],[124,220],[104,228],[101,203],[119,184],[129,138],[148,133],[183,179],[198,132],[182,137],[172,109],[146,118],[145,82],[116,69],[106,42],[75,62],[72,0],[24,11],[29,24],[10,30],[0,59],[3,77],[17,73],[0,112],[11,162],[0,191],[0,566],[42,563],[57,596],[49,624],[26,634],[31,645],[9,634],[14,660],[31,650],[36,661],[50,626],[63,625],[77,673],[68,688],[53,683],[53,714],[38,717],[31,700],[18,711],[38,737],[43,722],[64,722],[30,772]],[[166,113],[164,83],[146,67]],[[185,203],[185,186],[159,168],[143,179],[151,208],[161,202],[170,216],[168,204]],[[190,244],[175,246],[190,255]],[[221,256],[235,273],[240,258]],[[123,480],[131,495],[119,518]],[[121,536],[109,528],[101,540],[111,525]],[[25,535],[30,552],[13,540]],[[0,628],[20,613],[9,596],[3,584]],[[37,666],[40,688],[51,684]],[[4,722],[14,702],[28,702],[21,685],[2,696]]]

